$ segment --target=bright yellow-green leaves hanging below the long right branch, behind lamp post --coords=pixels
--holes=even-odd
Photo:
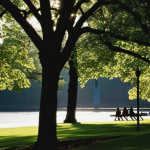
[[[90,37],[91,38],[91,37]],[[94,39],[93,39],[94,38]],[[140,77],[140,98],[149,101],[149,63],[139,60],[133,56],[123,53],[112,52],[105,47],[105,51],[98,50],[99,44],[94,46],[90,45],[92,41],[97,41],[97,37],[87,40],[87,43],[78,44],[80,50],[78,51],[78,72],[79,82],[82,87],[91,78],[107,77],[109,79],[119,77],[123,82],[130,82],[134,87],[129,90],[129,99],[136,99],[136,75],[135,71],[137,66],[140,67],[142,72]],[[87,39],[87,37],[86,37]],[[88,44],[90,43],[90,44]],[[127,44],[127,42],[126,42]],[[86,51],[82,50],[86,47]],[[88,47],[89,46],[89,47]],[[92,49],[92,51],[91,51]],[[148,47],[135,46],[135,50],[147,51]],[[89,57],[89,55],[91,57]],[[147,55],[148,56],[148,55]]]

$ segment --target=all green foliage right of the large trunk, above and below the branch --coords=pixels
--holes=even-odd
[[[127,7],[131,7],[127,1],[121,2]],[[150,18],[146,15],[146,10],[143,7],[135,9],[133,5],[133,12],[140,13],[146,23],[150,24]],[[103,34],[85,33],[76,44],[81,86],[84,87],[89,79],[97,79],[99,76],[110,79],[119,77],[123,82],[130,82],[136,86],[135,71],[139,66],[141,70],[140,98],[150,101],[149,64],[129,54],[115,52],[105,44],[109,42],[116,48],[125,49],[149,59],[150,47],[144,45],[144,42],[150,42],[150,35],[145,34],[141,25],[135,21],[135,17],[119,5],[100,7],[88,18],[87,24],[91,28],[103,31]],[[113,35],[127,38],[122,40]],[[135,98],[136,87],[133,87],[129,91],[129,99]]]

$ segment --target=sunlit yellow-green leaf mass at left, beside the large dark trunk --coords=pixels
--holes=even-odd
[[[29,38],[18,24],[2,23],[0,44],[0,90],[20,92],[29,88],[31,83],[26,77],[32,72],[33,58],[29,57]]]

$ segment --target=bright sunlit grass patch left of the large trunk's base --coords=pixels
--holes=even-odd
[[[0,128],[0,150],[6,147],[32,145],[36,141],[38,127]]]

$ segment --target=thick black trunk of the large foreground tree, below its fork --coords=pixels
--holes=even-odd
[[[56,65],[57,66],[57,65]],[[55,65],[44,65],[39,113],[39,129],[35,147],[55,150],[57,145],[56,111],[60,71]]]

